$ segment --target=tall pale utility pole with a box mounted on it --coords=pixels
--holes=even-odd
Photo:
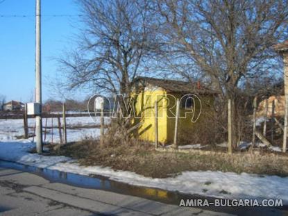
[[[40,113],[36,115],[36,149],[42,153],[42,90],[41,90],[41,6],[40,0],[36,0],[36,50],[35,50],[35,101],[40,104]]]

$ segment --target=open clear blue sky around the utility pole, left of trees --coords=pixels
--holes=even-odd
[[[0,0],[0,2],[3,0]],[[42,0],[42,98],[51,97],[47,76],[56,77],[57,63],[71,38],[77,33],[79,17],[45,15],[79,15],[74,0]],[[30,17],[1,17],[28,15]],[[0,3],[0,94],[11,99],[29,101],[35,86],[35,0],[5,0]]]

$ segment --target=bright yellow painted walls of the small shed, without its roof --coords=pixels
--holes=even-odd
[[[160,88],[145,90],[139,94],[135,103],[135,110],[137,117],[135,123],[143,122],[139,127],[137,135],[140,140],[155,141],[155,113],[154,104],[158,101],[158,141],[163,144],[173,143],[174,127],[175,127],[175,114],[176,114],[176,99],[180,99],[182,95],[167,93]],[[175,99],[176,98],[176,99]],[[202,119],[205,117],[203,113],[210,112],[207,104],[213,103],[212,96],[200,96],[202,103],[202,113],[198,120],[193,123],[191,121],[193,113],[187,113],[186,118],[180,118],[178,122],[178,130],[189,134],[189,131],[193,130],[193,127],[201,124]],[[200,105],[196,101],[196,114],[200,110]],[[187,110],[186,110],[187,111]],[[180,105],[180,117],[185,117],[185,108],[181,108]],[[206,116],[207,117],[207,116]],[[185,134],[184,133],[184,134]],[[179,140],[182,138],[178,135]]]

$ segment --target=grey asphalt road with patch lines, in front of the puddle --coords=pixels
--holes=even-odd
[[[51,183],[41,176],[0,168],[1,215],[228,215]]]

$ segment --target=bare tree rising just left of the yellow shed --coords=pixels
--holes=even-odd
[[[76,51],[60,59],[70,89],[89,86],[130,97],[135,78],[156,49],[149,1],[81,0],[82,36]]]

